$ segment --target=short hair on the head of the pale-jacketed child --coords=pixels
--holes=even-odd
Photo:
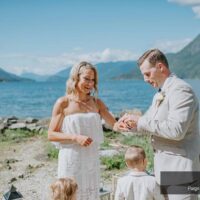
[[[130,167],[134,167],[146,158],[142,147],[133,145],[126,150],[125,161]]]

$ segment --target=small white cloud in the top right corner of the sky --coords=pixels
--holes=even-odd
[[[191,6],[197,18],[200,18],[200,0],[168,0],[168,2]]]

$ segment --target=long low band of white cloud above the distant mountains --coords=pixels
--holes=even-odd
[[[79,52],[79,49],[78,49]],[[138,55],[119,49],[105,49],[102,52],[78,53],[77,49],[71,53],[57,56],[35,56],[26,54],[0,55],[0,67],[8,72],[21,74],[33,72],[36,74],[54,74],[67,66],[86,60],[92,63],[135,60]]]

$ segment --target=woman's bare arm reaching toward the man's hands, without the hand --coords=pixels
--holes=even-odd
[[[111,127],[113,127],[117,121],[110,114],[106,105],[100,99],[97,99],[97,105],[98,105],[99,113],[101,117],[106,121],[106,123],[108,123]]]

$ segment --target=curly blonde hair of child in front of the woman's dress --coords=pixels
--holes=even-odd
[[[52,190],[52,200],[72,200],[78,185],[74,179],[60,178],[50,188]]]

